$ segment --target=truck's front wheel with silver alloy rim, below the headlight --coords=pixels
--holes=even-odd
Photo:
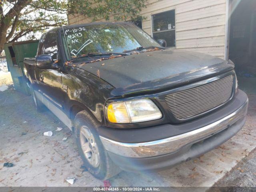
[[[108,156],[96,131],[100,124],[85,110],[76,114],[74,123],[78,151],[88,171],[101,180],[118,174],[120,168]]]

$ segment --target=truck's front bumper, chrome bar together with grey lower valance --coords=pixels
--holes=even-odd
[[[233,111],[220,110],[224,114],[218,120],[176,136],[136,143],[104,136],[100,139],[112,160],[124,170],[159,170],[199,156],[234,136],[245,123],[248,98],[239,90],[231,104]]]

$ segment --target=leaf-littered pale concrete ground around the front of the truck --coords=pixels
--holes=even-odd
[[[62,127],[61,131],[55,131]],[[52,131],[51,137],[43,132]],[[63,141],[63,138],[66,138]],[[121,172],[112,186],[207,186],[221,180],[256,147],[256,95],[249,95],[244,128],[222,146],[170,170]],[[11,162],[13,167],[3,167]],[[74,135],[50,111],[36,111],[31,96],[13,89],[0,92],[0,186],[104,186],[80,168]],[[246,174],[246,170],[241,174]],[[255,186],[256,183],[254,182]]]

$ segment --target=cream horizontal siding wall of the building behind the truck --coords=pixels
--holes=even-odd
[[[147,19],[142,29],[152,35],[152,15],[175,9],[176,48],[224,58],[226,0],[148,0],[140,14]],[[69,24],[88,23],[89,18],[68,16]],[[113,21],[113,17],[110,21]]]

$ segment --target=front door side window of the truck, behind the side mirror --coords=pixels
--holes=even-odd
[[[52,59],[55,61],[57,60],[57,40],[56,40],[56,33],[49,32],[46,34],[45,42],[44,42],[44,54],[48,54],[52,56]]]

